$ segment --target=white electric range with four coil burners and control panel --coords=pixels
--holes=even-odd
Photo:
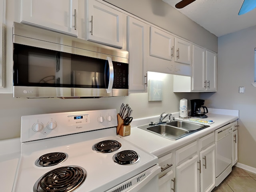
[[[116,135],[116,115],[22,116],[13,192],[157,192],[157,157]]]

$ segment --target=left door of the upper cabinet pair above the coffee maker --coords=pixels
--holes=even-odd
[[[192,91],[206,90],[205,49],[192,45]]]

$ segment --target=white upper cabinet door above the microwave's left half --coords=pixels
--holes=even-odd
[[[21,22],[77,36],[78,0],[22,0]]]

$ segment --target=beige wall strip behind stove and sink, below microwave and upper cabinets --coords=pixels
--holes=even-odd
[[[148,93],[130,94],[123,97],[97,99],[59,99],[59,98],[13,98],[12,94],[0,94],[0,140],[20,136],[22,115],[45,114],[80,110],[116,109],[128,103],[134,110],[133,118],[160,115],[162,112],[177,112],[182,98],[199,98],[198,93],[174,94],[173,76],[162,74],[164,81],[163,101],[148,102]]]

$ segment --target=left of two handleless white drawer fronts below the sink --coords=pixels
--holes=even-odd
[[[175,152],[176,166],[192,158],[197,153],[197,141],[194,141]]]

